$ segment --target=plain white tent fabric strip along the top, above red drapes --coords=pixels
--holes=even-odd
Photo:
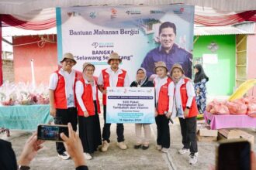
[[[256,9],[255,0],[0,0],[0,13],[20,15],[43,8],[77,5],[168,5],[175,3],[211,7],[223,12],[240,12]]]

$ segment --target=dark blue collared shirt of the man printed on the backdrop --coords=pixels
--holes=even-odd
[[[178,45],[174,44],[171,47],[169,53],[166,53],[164,49],[157,47],[152,49],[147,56],[144,58],[141,67],[147,70],[147,76],[150,77],[154,73],[154,63],[163,61],[168,70],[171,70],[171,66],[175,63],[182,65],[185,72],[185,76],[192,77],[192,53],[187,52],[185,49],[179,48]]]

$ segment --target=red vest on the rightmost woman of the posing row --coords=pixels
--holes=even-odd
[[[188,101],[186,84],[188,83],[189,79],[184,78],[184,80],[185,80],[185,83],[182,84],[181,89],[180,89],[183,111],[185,110],[185,107],[186,107],[186,104],[187,104],[187,101]],[[195,97],[193,97],[192,104],[191,104],[190,109],[189,109],[189,116],[188,117],[195,117],[195,116],[197,116],[198,113],[199,113],[199,111],[198,111],[197,105],[195,103]]]

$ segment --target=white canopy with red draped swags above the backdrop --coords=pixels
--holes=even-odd
[[[202,26],[227,26],[237,22],[256,21],[256,10],[254,10],[256,1],[251,0],[0,0],[0,36],[2,37],[2,26],[16,26],[30,30],[54,28],[56,7],[176,3],[197,5],[195,6],[195,24]],[[2,51],[1,42],[0,50]],[[0,58],[0,84],[2,84],[2,58]]]

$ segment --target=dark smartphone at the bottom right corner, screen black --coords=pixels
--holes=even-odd
[[[251,145],[245,140],[220,141],[216,149],[217,170],[251,170]]]

